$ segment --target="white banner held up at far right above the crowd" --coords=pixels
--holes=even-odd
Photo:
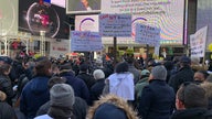
[[[191,56],[204,57],[208,26],[190,35]]]

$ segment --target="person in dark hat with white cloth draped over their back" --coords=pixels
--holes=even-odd
[[[109,94],[117,95],[125,100],[135,100],[134,74],[128,72],[128,64],[120,62],[116,65],[115,73],[106,79]]]

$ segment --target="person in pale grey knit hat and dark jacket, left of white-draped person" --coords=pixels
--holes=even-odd
[[[95,69],[93,73],[96,83],[91,88],[91,101],[98,100],[105,87],[105,73],[102,69]]]

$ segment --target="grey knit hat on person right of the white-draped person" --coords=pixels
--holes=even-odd
[[[153,76],[153,79],[162,79],[166,80],[167,78],[167,69],[165,66],[159,65],[159,66],[155,66],[151,69],[151,75]]]

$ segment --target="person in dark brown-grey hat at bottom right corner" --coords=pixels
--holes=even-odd
[[[170,119],[212,119],[206,91],[197,84],[183,83],[176,95],[177,110]]]

